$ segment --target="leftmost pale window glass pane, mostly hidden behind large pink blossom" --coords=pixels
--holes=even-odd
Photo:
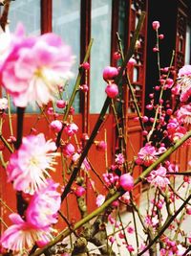
[[[27,35],[40,35],[40,0],[19,0],[12,1],[9,11],[10,31],[13,33],[16,26],[21,22]],[[5,95],[5,91],[3,91]],[[15,112],[15,106],[11,101],[11,111]],[[28,105],[26,112],[39,111],[35,105]]]

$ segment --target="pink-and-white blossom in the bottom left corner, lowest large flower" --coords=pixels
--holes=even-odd
[[[38,240],[48,243],[53,239],[50,226],[35,228],[15,213],[10,215],[10,219],[13,224],[3,233],[0,241],[4,248],[22,253],[23,249],[32,248]]]

